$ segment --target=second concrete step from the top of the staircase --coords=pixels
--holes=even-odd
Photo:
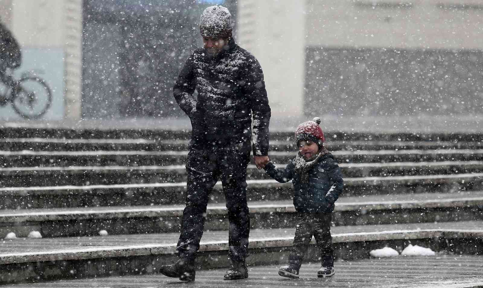
[[[184,151],[188,139],[84,139],[84,138],[0,138],[0,150],[4,151]],[[330,151],[355,150],[436,150],[483,149],[483,142],[466,141],[391,141],[328,139],[325,146]],[[291,139],[270,140],[270,151],[296,151]]]

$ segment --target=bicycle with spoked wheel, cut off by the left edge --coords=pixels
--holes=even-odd
[[[11,72],[5,72],[0,74],[0,82],[6,86],[4,93],[0,92],[0,106],[3,107],[10,101],[14,111],[25,119],[39,118],[52,105],[49,86],[32,72],[22,73],[18,80]]]

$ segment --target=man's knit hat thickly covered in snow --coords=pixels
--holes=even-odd
[[[199,17],[199,32],[203,37],[227,38],[231,35],[231,14],[221,5],[206,8]]]

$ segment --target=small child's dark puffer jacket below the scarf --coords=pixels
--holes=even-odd
[[[295,159],[294,159],[295,160]],[[302,183],[295,171],[294,160],[284,169],[269,163],[265,171],[280,183],[292,180],[294,184],[294,206],[298,212],[329,213],[334,211],[334,202],[342,192],[344,181],[342,172],[332,154],[322,156],[318,163],[309,170],[308,183]]]

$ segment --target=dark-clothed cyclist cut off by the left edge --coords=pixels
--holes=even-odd
[[[0,81],[3,80],[7,68],[17,68],[22,62],[20,45],[12,32],[0,22]],[[5,105],[6,99],[0,96],[0,105]]]

